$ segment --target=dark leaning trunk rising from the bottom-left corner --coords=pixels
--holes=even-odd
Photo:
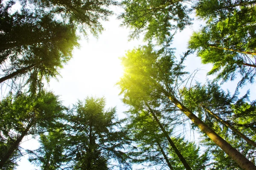
[[[22,141],[23,137],[26,136],[26,134],[28,133],[30,127],[32,127],[33,122],[30,122],[29,125],[26,127],[26,129],[21,133],[21,135],[17,138],[17,140],[11,144],[11,146],[9,147],[7,153],[0,158],[0,169],[2,169],[2,167],[4,166],[4,164],[6,164],[6,161],[9,160],[9,158],[12,156],[13,152],[19,147],[20,142]]]

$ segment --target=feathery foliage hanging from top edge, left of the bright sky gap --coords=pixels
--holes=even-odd
[[[85,35],[90,30],[96,37],[104,29],[100,20],[108,20],[113,14],[109,7],[117,5],[115,0],[31,0],[30,2],[39,10],[49,10],[55,16],[61,17],[64,23],[78,26]]]

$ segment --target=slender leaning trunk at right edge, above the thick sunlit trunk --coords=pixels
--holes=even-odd
[[[237,130],[235,127],[233,127],[232,125],[230,125],[230,123],[224,121],[223,119],[221,119],[219,116],[217,116],[215,113],[213,113],[212,111],[210,111],[209,109],[207,109],[206,107],[204,107],[203,105],[201,105],[202,108],[204,108],[208,113],[210,113],[212,116],[215,117],[215,119],[217,119],[219,122],[221,122],[223,125],[227,126],[228,128],[230,128],[233,132],[235,132],[238,136],[240,136],[241,138],[243,138],[246,142],[248,142],[249,144],[251,144],[253,147],[256,147],[256,143],[253,142],[251,139],[247,138],[247,136],[245,136],[243,133],[241,133],[239,130]]]

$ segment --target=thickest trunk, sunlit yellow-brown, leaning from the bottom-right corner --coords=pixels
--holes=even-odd
[[[256,170],[255,164],[244,157],[239,151],[232,147],[228,142],[218,136],[211,128],[209,128],[201,119],[193,114],[175,96],[166,93],[166,96],[180,109],[197,127],[199,127],[215,144],[217,144],[228,156],[230,156],[236,163],[244,170]]]

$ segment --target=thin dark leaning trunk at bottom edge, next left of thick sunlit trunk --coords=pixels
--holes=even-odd
[[[150,106],[148,104],[146,104],[150,113],[152,114],[152,116],[154,117],[155,121],[157,121],[157,124],[159,125],[159,127],[161,128],[164,136],[166,137],[166,139],[168,140],[169,144],[171,145],[171,147],[173,148],[174,152],[177,154],[177,156],[179,157],[180,161],[183,163],[184,167],[186,168],[186,170],[191,170],[191,167],[189,166],[189,164],[187,163],[186,159],[182,156],[182,154],[180,153],[180,151],[178,150],[178,148],[176,147],[175,143],[172,141],[172,139],[170,138],[169,134],[166,132],[165,128],[163,127],[163,125],[161,124],[161,122],[159,121],[159,119],[157,118],[157,116],[155,115],[154,111],[152,111],[152,109],[150,108]]]

